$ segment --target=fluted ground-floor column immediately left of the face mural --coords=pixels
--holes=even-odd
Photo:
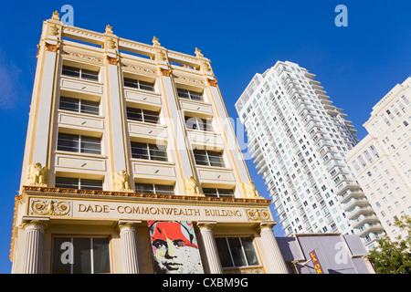
[[[119,221],[122,250],[122,271],[124,274],[139,274],[139,259],[137,254],[136,224],[141,221]]]

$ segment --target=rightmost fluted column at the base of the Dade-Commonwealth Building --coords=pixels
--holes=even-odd
[[[261,223],[259,225],[259,234],[266,251],[266,255],[269,258],[269,266],[271,273],[273,274],[289,274],[284,258],[279,250],[276,237],[272,232],[272,227],[275,223]]]

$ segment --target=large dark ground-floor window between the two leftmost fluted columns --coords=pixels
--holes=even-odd
[[[72,264],[63,263],[72,248]],[[111,273],[110,238],[108,237],[54,237],[52,274]]]

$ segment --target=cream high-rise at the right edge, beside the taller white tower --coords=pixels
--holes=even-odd
[[[394,226],[395,217],[411,214],[410,124],[411,78],[406,78],[374,106],[370,119],[364,123],[369,134],[347,156],[392,240],[401,234]]]

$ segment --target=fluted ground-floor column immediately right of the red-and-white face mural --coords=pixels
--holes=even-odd
[[[205,256],[210,269],[210,274],[223,274],[220,256],[216,248],[216,240],[213,235],[213,227],[216,222],[198,222],[197,226],[200,229],[201,238],[205,246]]]

